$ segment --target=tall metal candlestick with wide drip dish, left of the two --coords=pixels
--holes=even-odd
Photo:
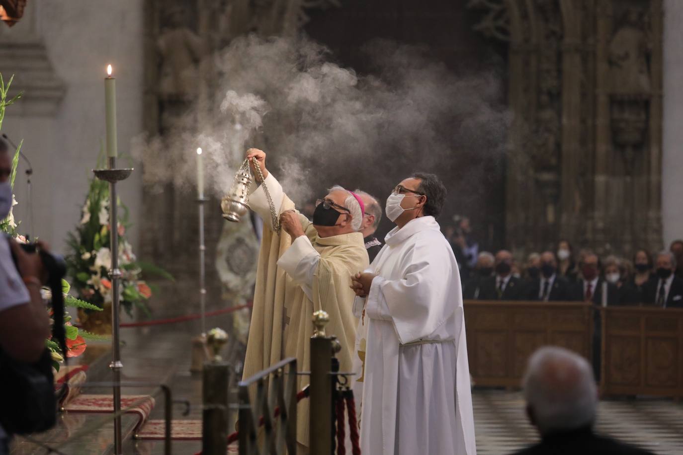
[[[116,182],[128,178],[133,169],[117,169],[116,158],[109,158],[108,169],[95,169],[95,177],[109,182],[109,224],[110,224],[110,246],[111,246],[111,269],[109,278],[111,279],[111,372],[113,373],[113,392],[114,392],[114,454],[122,455],[122,435],[121,435],[121,343],[119,339],[119,282],[121,271],[119,269],[119,220],[117,218],[117,197]]]

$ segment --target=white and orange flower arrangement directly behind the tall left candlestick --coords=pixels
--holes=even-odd
[[[118,224],[119,267],[122,272],[120,281],[120,304],[130,316],[133,308],[139,308],[150,315],[147,301],[152,297],[153,287],[143,280],[143,274],[161,276],[173,280],[167,271],[150,263],[138,261],[133,247],[126,239],[128,208],[117,201],[122,216]],[[104,308],[111,304],[111,226],[109,224],[109,184],[92,178],[83,205],[83,216],[76,230],[69,233],[67,243],[70,253],[66,257],[68,274],[73,278],[77,295]]]

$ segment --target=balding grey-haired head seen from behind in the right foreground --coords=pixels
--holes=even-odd
[[[587,360],[568,349],[546,346],[529,358],[524,396],[542,435],[592,425],[598,388]]]

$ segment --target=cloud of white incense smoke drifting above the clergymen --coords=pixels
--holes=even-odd
[[[503,156],[509,123],[499,78],[456,76],[421,49],[391,42],[363,52],[373,76],[331,63],[306,38],[234,40],[212,57],[222,74],[213,105],[198,102],[163,139],[137,141],[145,182],[190,188],[202,147],[206,191],[221,197],[245,151],[258,147],[297,203],[333,184],[383,198],[421,170],[451,177],[451,189],[481,184],[484,166]],[[212,109],[217,115],[207,115]]]

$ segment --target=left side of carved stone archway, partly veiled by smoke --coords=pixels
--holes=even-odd
[[[197,125],[214,117],[221,101],[215,96],[220,75],[210,56],[234,38],[247,33],[293,35],[307,22],[308,10],[334,6],[337,0],[145,0],[146,132],[163,139],[181,124],[182,130],[195,130],[188,125],[191,108],[197,113]],[[186,302],[186,312],[194,312],[199,259],[196,195],[175,188],[170,181],[163,192],[151,190],[147,181],[143,189],[142,255],[176,278],[174,283],[158,283],[161,295],[154,300],[156,315],[178,314],[177,307],[165,305],[168,302]],[[226,229],[219,201],[211,200],[205,207],[207,308],[211,310],[225,306],[221,296],[226,289],[219,270],[211,265],[221,254],[217,246]]]

